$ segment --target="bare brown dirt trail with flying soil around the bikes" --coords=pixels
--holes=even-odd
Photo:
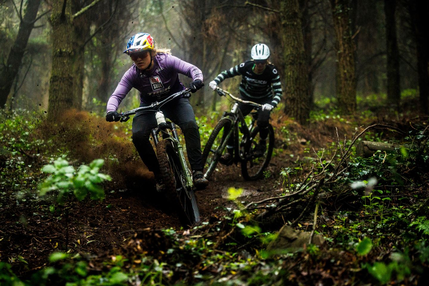
[[[309,156],[305,148],[326,148],[335,141],[336,129],[350,138],[356,127],[332,120],[303,128],[280,113],[273,114],[272,125],[276,130],[276,153],[268,167],[270,177],[244,181],[240,166],[218,165],[208,188],[196,193],[203,221],[222,216],[225,207],[234,207],[227,199],[230,187],[243,190],[243,202],[280,193],[281,169],[298,166],[299,158]],[[285,128],[288,133],[282,131]],[[75,166],[104,158],[101,172],[111,175],[112,181],[103,186],[105,200],[71,199],[64,206],[39,200],[35,183],[22,182],[20,187],[29,190],[29,194],[20,200],[15,197],[16,191],[4,190],[11,196],[6,196],[7,201],[0,205],[1,261],[9,262],[16,274],[26,274],[46,265],[54,251],[97,255],[121,246],[139,229],[180,230],[177,215],[157,194],[153,174],[136,154],[130,135],[129,128],[117,128],[86,112],[72,111],[54,124],[42,122],[33,137],[46,141],[46,150],[40,151],[45,156],[25,158],[33,166],[34,177],[44,176],[40,168],[49,163],[49,149],[54,147],[74,159]],[[52,204],[54,209],[50,208]]]

